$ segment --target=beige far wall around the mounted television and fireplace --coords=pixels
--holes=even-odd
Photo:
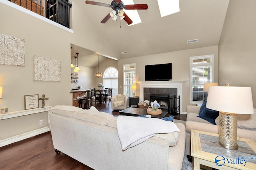
[[[170,53],[162,53],[157,55],[134,57],[130,59],[122,59],[118,62],[118,84],[122,85],[119,88],[119,94],[123,94],[123,64],[136,63],[136,82],[145,81],[145,65],[151,64],[162,64],[162,63],[172,63],[172,80],[185,80],[183,84],[183,108],[182,110],[186,112],[187,105],[190,105],[189,100],[189,57],[201,56],[201,55],[214,55],[214,82],[218,81],[218,46],[204,47],[198,49],[189,49],[182,51],[174,51]],[[136,90],[136,96],[139,96],[139,84],[137,83],[138,90]],[[143,100],[143,99],[140,99]]]

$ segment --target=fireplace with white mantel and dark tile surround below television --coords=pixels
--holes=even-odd
[[[174,113],[182,114],[182,85],[185,81],[146,81],[146,82],[138,82],[140,84],[140,101],[142,100],[149,100],[150,101],[150,94],[152,96],[168,96],[168,108],[173,106],[174,103],[175,108],[170,110],[169,112],[173,111]],[[176,96],[176,97],[174,97]],[[178,99],[174,99],[178,98]],[[174,99],[174,100],[173,100]],[[162,100],[162,99],[161,99]],[[159,99],[157,100],[159,102]],[[178,103],[178,105],[177,105]],[[161,102],[163,105],[161,109],[165,109],[166,104],[164,101]],[[161,105],[160,104],[160,105]],[[177,108],[179,106],[179,108]]]

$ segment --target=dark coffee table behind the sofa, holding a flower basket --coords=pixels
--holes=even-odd
[[[168,112],[167,111],[162,111],[160,115],[151,115],[151,117],[154,118],[163,118]],[[119,111],[120,115],[125,115],[125,116],[139,116],[139,115],[148,115],[147,109],[140,109],[136,107],[129,107],[127,109]]]

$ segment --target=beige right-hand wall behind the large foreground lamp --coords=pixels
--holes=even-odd
[[[256,107],[256,1],[229,2],[219,43],[219,84],[252,87]]]

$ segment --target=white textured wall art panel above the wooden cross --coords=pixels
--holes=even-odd
[[[60,60],[34,56],[35,81],[60,81]]]

